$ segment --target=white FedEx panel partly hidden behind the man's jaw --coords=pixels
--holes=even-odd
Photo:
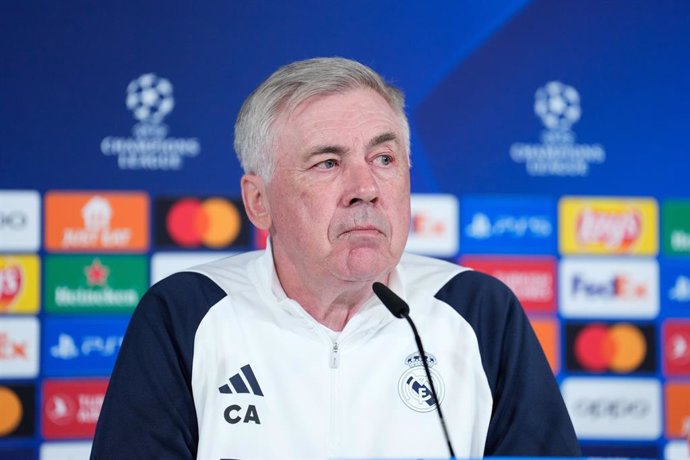
[[[453,195],[413,194],[406,249],[438,257],[458,252],[458,200]]]

